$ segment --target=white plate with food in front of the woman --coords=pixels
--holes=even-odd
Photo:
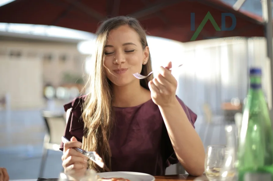
[[[147,173],[139,173],[139,172],[104,172],[97,173],[101,178],[124,178],[129,179],[130,181],[154,181],[154,176],[151,176]]]

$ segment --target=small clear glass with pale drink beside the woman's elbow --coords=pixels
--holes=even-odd
[[[221,168],[225,161],[225,146],[211,145],[207,147],[205,173],[210,181],[221,179]]]

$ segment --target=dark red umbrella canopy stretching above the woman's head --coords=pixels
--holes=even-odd
[[[95,33],[104,19],[137,18],[148,35],[180,42],[210,37],[264,36],[256,15],[220,0],[16,0],[0,7],[0,22],[55,25]]]

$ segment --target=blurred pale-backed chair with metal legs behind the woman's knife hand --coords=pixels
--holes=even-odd
[[[40,167],[39,178],[43,178],[45,162],[48,150],[60,151],[61,137],[64,134],[66,120],[63,113],[55,113],[52,111],[41,112],[46,126],[46,134],[44,136],[44,145],[42,153],[42,161]]]

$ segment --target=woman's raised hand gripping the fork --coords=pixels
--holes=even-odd
[[[177,81],[172,75],[172,62],[160,67],[159,73],[149,82],[151,97],[158,106],[168,106],[176,101]]]

